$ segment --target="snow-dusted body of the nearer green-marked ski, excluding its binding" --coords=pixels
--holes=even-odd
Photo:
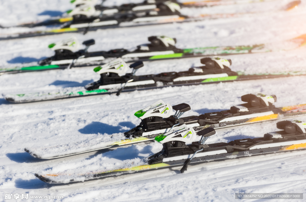
[[[269,78],[282,78],[291,76],[301,76],[306,75],[306,71],[289,71],[289,72],[277,72],[271,74],[241,74],[238,76],[228,76],[227,74],[206,74],[199,76],[190,77],[179,77],[174,79],[173,82],[162,82],[154,80],[148,81],[137,81],[130,82],[125,85],[123,92],[131,92],[136,90],[149,90],[155,88],[164,88],[168,86],[182,86],[182,85],[203,85],[219,82],[228,81],[245,81],[245,80],[255,80],[255,79],[269,79]],[[65,88],[62,90],[56,90],[53,92],[37,92],[37,93],[21,93],[21,94],[3,94],[3,97],[13,103],[27,103],[27,102],[38,102],[44,100],[52,99],[63,99],[81,96],[91,96],[91,95],[103,95],[103,94],[113,94],[117,93],[123,84],[111,84],[100,86],[101,89],[90,90],[90,91],[71,91],[70,88]]]

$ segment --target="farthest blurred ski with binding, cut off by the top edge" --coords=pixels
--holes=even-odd
[[[223,0],[223,1],[198,1],[198,2],[177,2],[176,0],[145,0],[142,3],[130,3],[123,4],[120,6],[103,6],[103,4],[96,4],[97,1],[73,1],[73,4],[76,6],[73,10],[68,10],[60,18],[52,18],[44,20],[42,22],[35,23],[23,23],[17,27],[37,27],[37,26],[50,26],[57,24],[65,24],[63,27],[66,27],[68,24],[78,24],[78,23],[88,23],[93,22],[94,20],[134,20],[138,17],[146,15],[158,15],[156,12],[160,12],[160,15],[170,15],[170,14],[179,14],[181,7],[203,7],[203,6],[214,6],[214,5],[230,5],[237,3],[254,3],[254,2],[268,2],[269,0],[253,0],[253,1],[244,1],[244,0]],[[300,4],[299,1],[296,3],[288,4],[285,9],[289,10],[292,7]],[[150,13],[151,12],[151,13]],[[69,22],[69,23],[67,23]]]

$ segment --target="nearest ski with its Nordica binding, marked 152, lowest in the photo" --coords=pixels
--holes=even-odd
[[[205,144],[215,135],[214,128],[205,128],[196,132],[192,127],[183,124],[180,127],[156,136],[155,140],[162,144],[160,152],[144,159],[144,164],[133,166],[133,163],[116,170],[68,170],[58,173],[42,171],[35,176],[48,183],[84,182],[106,176],[118,176],[137,171],[150,171],[156,168],[169,168],[183,165],[181,173],[187,170],[190,163],[204,163],[214,160],[249,157],[252,155],[277,153],[282,151],[301,150],[306,148],[306,123],[297,119],[280,121],[276,124],[281,131],[269,132],[260,138],[236,139],[230,142]],[[200,136],[199,139],[197,136]]]

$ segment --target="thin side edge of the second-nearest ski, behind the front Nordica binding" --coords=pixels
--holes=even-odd
[[[263,122],[263,121],[273,121],[273,120],[278,120],[278,119],[282,119],[282,118],[290,118],[290,117],[297,117],[297,116],[306,115],[306,104],[279,107],[279,109],[284,109],[284,108],[289,108],[290,111],[291,110],[298,110],[298,109],[302,109],[303,111],[290,112],[290,113],[286,113],[284,111],[284,113],[281,113],[281,114],[272,114],[272,115],[268,115],[268,116],[248,118],[248,119],[242,119],[242,120],[238,120],[238,121],[229,121],[229,122],[217,123],[217,124],[207,124],[205,126],[194,127],[194,130],[195,131],[200,131],[200,130],[203,130],[203,129],[208,128],[208,127],[215,128],[215,129],[227,128],[227,127],[233,127],[233,126],[244,125],[244,124],[258,123],[258,122]],[[157,135],[160,135],[160,134],[162,134],[162,133],[157,133],[157,134],[149,135],[149,136],[146,136],[146,137],[141,136],[141,137],[137,137],[137,138],[134,138],[134,139],[123,139],[121,141],[114,142],[113,144],[111,144],[109,146],[106,146],[106,147],[97,148],[97,149],[94,149],[94,150],[87,150],[87,151],[78,152],[78,153],[70,153],[70,154],[67,154],[67,155],[58,155],[58,156],[49,157],[49,158],[42,158],[40,155],[35,154],[34,152],[31,151],[31,149],[28,149],[28,148],[25,148],[24,150],[35,158],[54,159],[54,158],[68,157],[68,156],[78,155],[78,154],[81,154],[81,153],[88,153],[88,152],[103,150],[103,149],[108,149],[108,148],[115,148],[115,147],[119,147],[119,146],[135,144],[135,143],[139,143],[139,142],[152,141],[152,140],[154,140],[154,138]]]

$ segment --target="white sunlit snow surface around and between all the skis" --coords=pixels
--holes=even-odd
[[[109,4],[120,5],[123,2],[136,2],[136,0],[110,2]],[[288,2],[275,0],[265,3],[184,9],[184,12],[196,13],[199,10],[203,13],[268,12],[276,11]],[[43,20],[50,16],[39,13],[65,12],[72,8],[69,1],[59,0],[0,0],[0,5],[2,25]],[[47,46],[71,35],[80,41],[94,38],[96,44],[91,46],[89,51],[123,47],[131,49],[147,43],[148,36],[159,34],[177,38],[178,48],[282,44],[285,40],[306,33],[305,6],[306,2],[302,0],[297,9],[288,12],[98,30],[86,35],[59,34],[0,41],[0,66],[18,66],[22,62],[35,62],[52,56],[53,52]],[[15,29],[17,28],[12,28],[11,31],[16,31]],[[1,34],[9,31],[0,30]],[[226,58],[232,60],[232,70],[243,71],[246,74],[303,71],[306,68],[305,47],[288,51],[226,56]],[[190,67],[200,66],[200,58],[153,61],[145,62],[144,65],[137,71],[137,75],[187,70]],[[93,67],[1,75],[0,94],[56,91],[66,87],[83,89],[84,85],[98,79],[99,75],[95,74]],[[229,109],[241,103],[242,95],[252,92],[276,95],[275,106],[278,107],[303,104],[306,103],[304,83],[305,76],[297,76],[168,87],[122,93],[119,97],[96,95],[25,104],[11,104],[0,96],[2,140],[0,196],[4,201],[6,193],[29,193],[30,196],[63,195],[62,201],[236,201],[234,195],[238,192],[304,193],[306,191],[305,150],[189,165],[188,171],[184,174],[179,172],[181,167],[174,167],[67,185],[50,185],[37,179],[34,174],[69,173],[71,169],[79,172],[103,171],[121,168],[130,162],[137,165],[148,156],[160,151],[162,145],[158,142],[139,143],[114,150],[95,151],[51,160],[36,159],[24,151],[26,147],[71,144],[97,137],[102,141],[109,138],[107,134],[122,134],[139,124],[140,119],[134,116],[136,111],[159,99],[171,105],[189,104],[191,110],[184,116]],[[298,119],[306,121],[306,116]],[[276,122],[268,121],[219,129],[206,143],[262,137],[267,132],[278,130]]]

